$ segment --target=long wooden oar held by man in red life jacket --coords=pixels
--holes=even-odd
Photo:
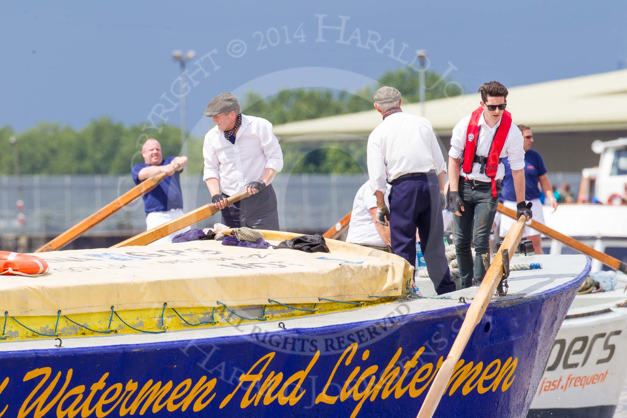
[[[507,248],[510,259],[514,255],[514,251],[524,231],[525,217],[521,216],[520,219],[512,225],[500,246],[500,249]],[[464,351],[464,348],[466,348],[466,344],[475,330],[475,327],[477,327],[477,324],[481,321],[483,313],[485,313],[502,277],[503,256],[502,252],[498,251],[492,264],[490,264],[490,268],[488,268],[488,271],[485,273],[485,277],[477,290],[477,295],[475,295],[475,298],[473,298],[472,303],[468,307],[466,318],[461,324],[460,332],[455,338],[455,342],[453,342],[453,347],[451,347],[448,357],[446,357],[446,360],[442,363],[438,374],[436,374],[436,377],[433,379],[433,384],[429,387],[429,392],[424,398],[420,412],[418,412],[418,418],[430,418],[438,407],[440,399],[446,387],[448,387],[448,382],[455,371],[455,365],[458,360],[460,360],[461,353]]]

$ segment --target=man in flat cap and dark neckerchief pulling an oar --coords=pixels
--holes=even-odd
[[[283,153],[272,124],[242,115],[231,93],[211,99],[204,115],[216,126],[204,136],[203,180],[222,211],[222,223],[278,231],[277,195],[270,182],[283,168]],[[229,204],[229,196],[243,191],[251,196]]]

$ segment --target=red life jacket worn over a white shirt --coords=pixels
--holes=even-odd
[[[462,170],[465,173],[472,172],[473,162],[475,160],[475,149],[477,148],[477,140],[479,138],[479,118],[483,113],[483,107],[478,107],[475,112],[472,112],[470,122],[468,122],[468,128],[466,129],[466,147],[464,149],[464,163]],[[505,145],[505,139],[509,128],[512,126],[512,114],[503,110],[501,116],[501,123],[498,125],[497,133],[495,133],[490,146],[490,154],[488,154],[488,162],[485,165],[485,175],[492,180],[492,197],[497,197],[497,185],[494,178],[497,176],[498,162],[500,160],[501,151],[503,145]],[[467,179],[467,177],[466,177]]]

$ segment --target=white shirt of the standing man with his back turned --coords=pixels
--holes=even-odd
[[[374,128],[368,137],[367,164],[372,193],[385,191],[386,179],[392,182],[403,174],[446,171],[431,122],[403,112],[389,115]]]

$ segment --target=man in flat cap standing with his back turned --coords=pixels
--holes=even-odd
[[[401,93],[381,87],[374,108],[383,116],[368,138],[370,189],[377,198],[377,221],[390,226],[395,254],[416,263],[416,227],[429,278],[438,295],[455,290],[446,262],[442,209],[446,206],[446,163],[431,123],[401,110]],[[386,182],[392,185],[389,209]]]

